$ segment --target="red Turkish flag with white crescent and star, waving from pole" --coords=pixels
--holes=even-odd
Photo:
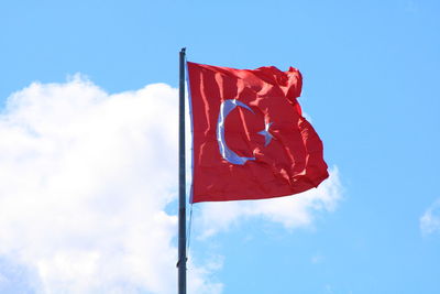
[[[187,66],[191,203],[287,196],[329,176],[322,142],[297,101],[297,69]]]

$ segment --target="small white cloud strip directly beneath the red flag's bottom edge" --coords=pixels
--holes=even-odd
[[[227,230],[251,217],[263,217],[286,229],[312,227],[318,211],[333,211],[342,199],[338,167],[318,188],[305,193],[263,200],[204,203],[195,222],[200,224],[201,238]]]

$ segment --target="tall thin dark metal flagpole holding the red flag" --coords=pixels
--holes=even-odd
[[[179,54],[178,294],[186,294],[185,51],[186,48],[182,48]]]

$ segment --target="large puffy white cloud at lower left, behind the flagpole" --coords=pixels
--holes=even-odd
[[[37,293],[175,293],[176,100],[164,84],[109,95],[79,75],[9,97],[0,292],[25,276]],[[209,266],[191,269],[194,293],[220,293]]]

